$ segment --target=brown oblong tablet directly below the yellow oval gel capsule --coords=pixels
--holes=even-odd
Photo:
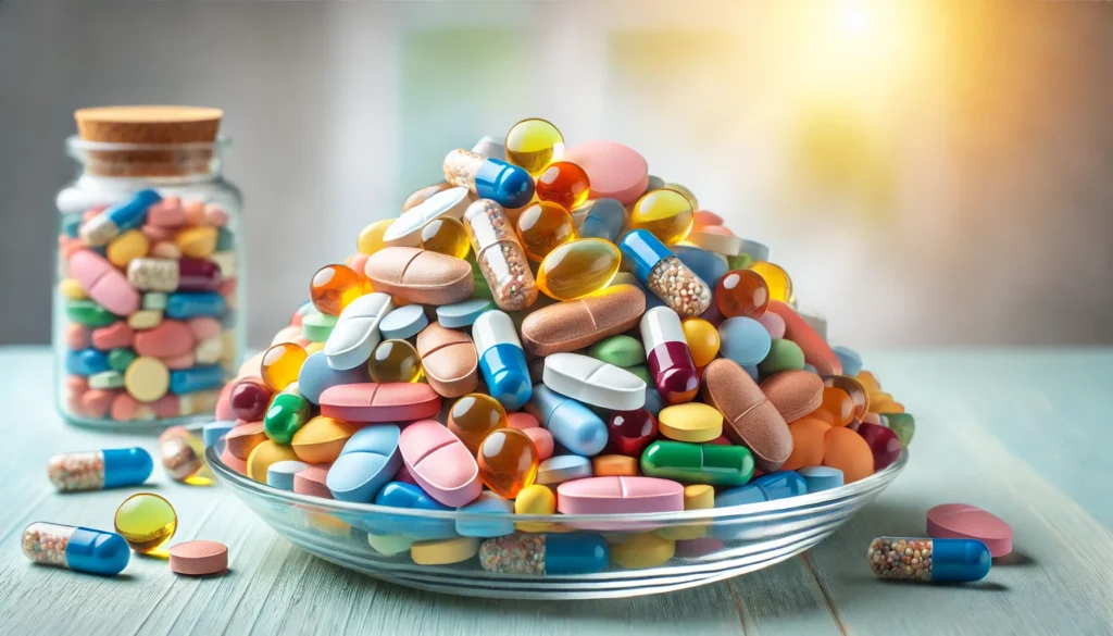
[[[646,294],[633,285],[540,309],[522,321],[522,346],[533,355],[571,352],[633,329],[646,313]]]

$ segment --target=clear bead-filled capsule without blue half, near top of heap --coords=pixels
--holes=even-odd
[[[532,305],[538,284],[506,211],[494,200],[480,199],[467,206],[464,227],[499,309],[515,312]]]

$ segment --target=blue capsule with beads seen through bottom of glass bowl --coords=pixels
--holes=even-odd
[[[583,575],[607,569],[610,550],[601,535],[514,534],[480,545],[480,565],[494,574]]]

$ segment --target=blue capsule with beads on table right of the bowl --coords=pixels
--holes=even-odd
[[[989,574],[989,548],[975,539],[878,537],[869,544],[877,578],[916,583],[968,583]]]

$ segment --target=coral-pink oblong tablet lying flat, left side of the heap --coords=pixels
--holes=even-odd
[[[408,422],[435,418],[441,397],[429,384],[338,384],[321,393],[321,414],[352,423]]]

